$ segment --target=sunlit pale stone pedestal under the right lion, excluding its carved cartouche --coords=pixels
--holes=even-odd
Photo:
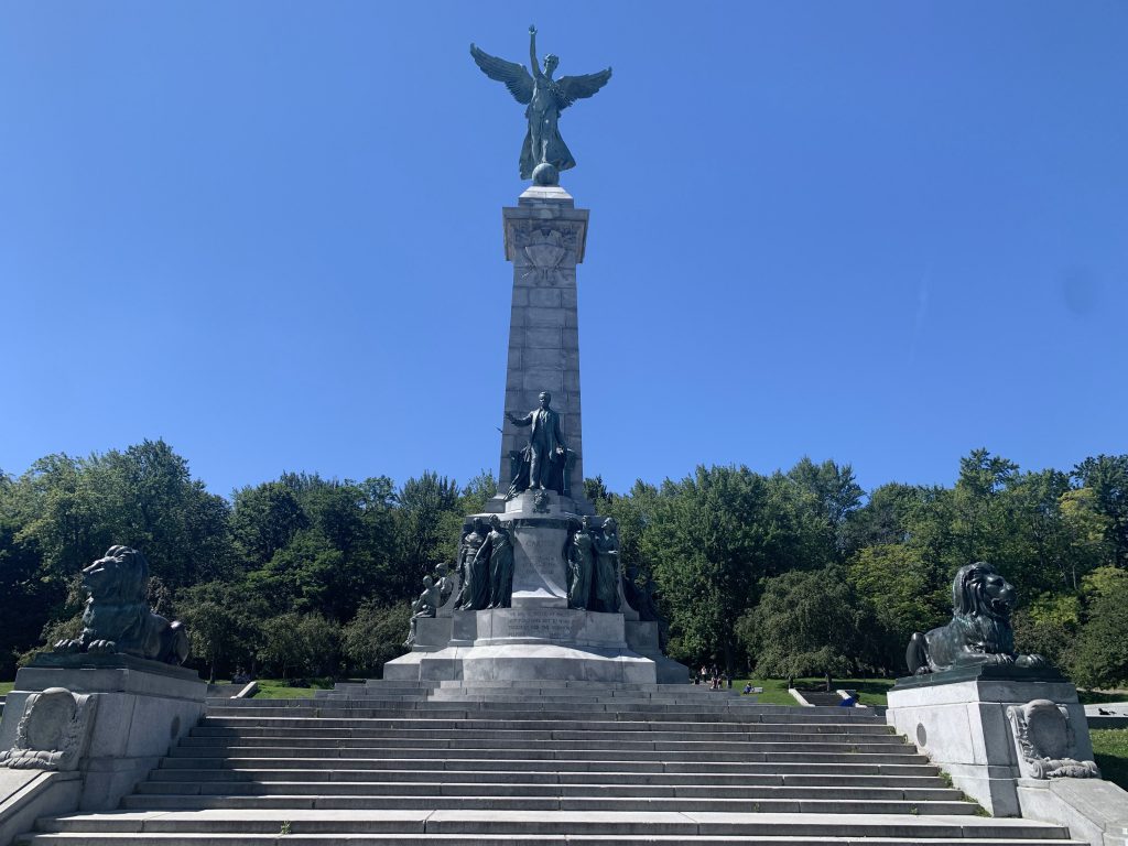
[[[898,679],[889,691],[887,720],[992,814],[1017,817],[1020,757],[1007,708],[1034,699],[1064,707],[1076,737],[1075,757],[1091,759],[1077,690],[1052,672],[976,667]]]

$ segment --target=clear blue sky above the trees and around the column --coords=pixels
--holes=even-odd
[[[589,475],[1128,451],[1123,2],[3,0],[0,468],[496,472],[530,23]]]

